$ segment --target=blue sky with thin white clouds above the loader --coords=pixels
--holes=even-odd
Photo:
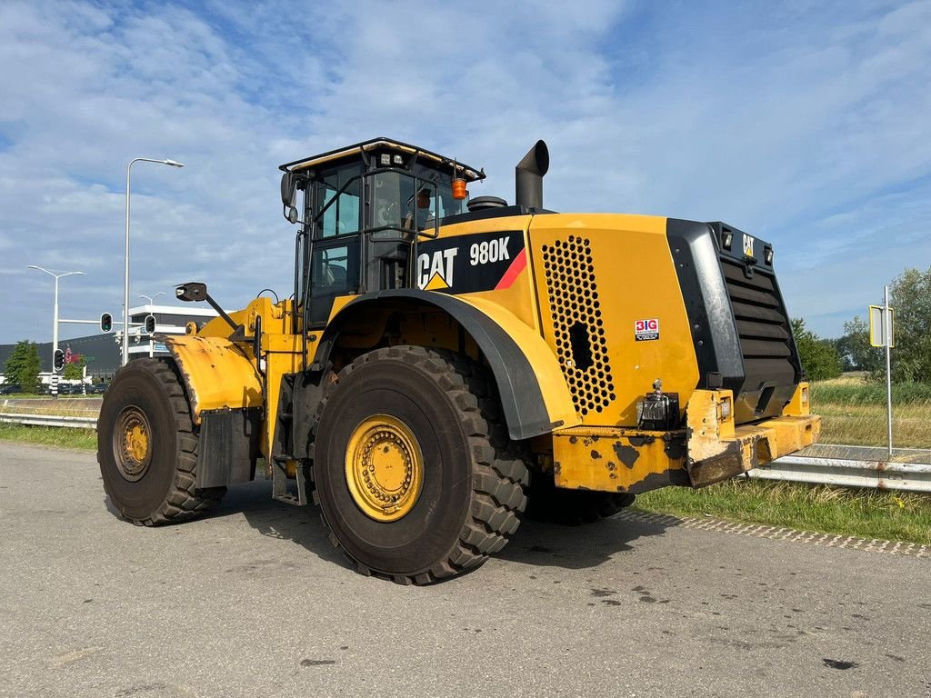
[[[331,4],[327,4],[328,6]],[[377,135],[513,199],[722,220],[823,336],[931,265],[931,2],[0,4],[0,342],[202,280],[290,293],[277,166]],[[139,301],[142,302],[142,301]],[[78,336],[87,327],[62,327]]]

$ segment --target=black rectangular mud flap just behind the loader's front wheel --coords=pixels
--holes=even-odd
[[[197,447],[197,487],[224,487],[255,477],[262,409],[211,409],[201,412]]]

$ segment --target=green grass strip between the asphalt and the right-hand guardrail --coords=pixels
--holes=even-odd
[[[931,496],[736,478],[702,490],[669,487],[637,497],[641,511],[726,518],[857,538],[931,544]]]

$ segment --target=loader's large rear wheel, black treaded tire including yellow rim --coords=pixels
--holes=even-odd
[[[498,440],[493,402],[480,399],[491,390],[479,365],[417,346],[339,373],[320,409],[314,498],[360,572],[430,584],[479,566],[517,530],[528,473]]]

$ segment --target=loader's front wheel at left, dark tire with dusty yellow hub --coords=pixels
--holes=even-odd
[[[197,435],[181,383],[163,361],[116,372],[97,420],[97,462],[116,511],[138,526],[186,521],[226,488],[196,488]]]

